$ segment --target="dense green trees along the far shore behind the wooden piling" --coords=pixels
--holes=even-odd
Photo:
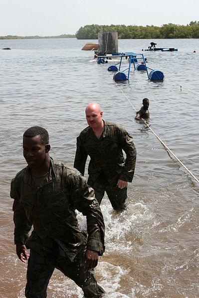
[[[158,26],[86,25],[76,32],[77,39],[98,39],[99,32],[118,32],[119,39],[199,38],[199,21],[189,25],[164,24]]]

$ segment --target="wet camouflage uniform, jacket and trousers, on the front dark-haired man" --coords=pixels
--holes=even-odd
[[[104,222],[93,189],[74,168],[50,161],[50,171],[40,187],[27,166],[11,181],[14,199],[14,242],[30,248],[25,297],[46,298],[54,268],[82,288],[85,297],[102,297],[93,271],[80,266],[85,249],[104,252]],[[75,209],[87,217],[87,234],[77,222]],[[33,225],[33,232],[28,232]]]

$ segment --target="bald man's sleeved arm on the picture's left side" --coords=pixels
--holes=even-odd
[[[74,168],[84,175],[88,154],[85,152],[80,136],[77,137],[77,148],[74,160]]]

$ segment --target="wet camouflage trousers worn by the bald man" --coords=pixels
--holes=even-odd
[[[88,184],[95,191],[95,198],[99,204],[104,197],[105,192],[111,202],[113,209],[123,210],[125,208],[125,201],[127,199],[127,187],[119,189],[117,187],[118,175],[115,176],[111,183],[107,181],[107,178],[101,173],[95,181],[92,181],[92,177],[89,176]]]

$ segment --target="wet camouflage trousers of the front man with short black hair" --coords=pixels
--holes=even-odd
[[[46,298],[47,286],[55,268],[73,280],[83,290],[84,297],[103,297],[105,291],[97,285],[93,270],[85,273],[80,266],[81,260],[82,253],[71,262],[68,258],[56,258],[52,255],[42,256],[30,249],[25,297]]]

